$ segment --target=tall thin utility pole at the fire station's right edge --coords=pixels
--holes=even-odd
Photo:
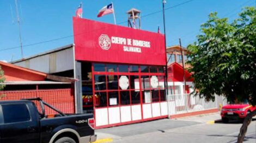
[[[163,33],[164,33],[164,48],[166,49],[166,18],[164,15],[164,4],[166,4],[165,0],[162,0],[163,4]],[[167,49],[166,49],[167,50]],[[167,95],[167,112],[168,112],[168,118],[170,118],[170,113],[169,113],[169,94],[168,94],[168,71],[167,71],[167,51],[166,51],[166,95]]]

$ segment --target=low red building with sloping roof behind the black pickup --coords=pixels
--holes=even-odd
[[[74,89],[71,83],[54,82],[47,74],[0,62],[4,71],[5,85],[0,100],[41,98],[64,113],[74,113]],[[38,105],[37,102],[35,102]],[[56,114],[46,107],[46,115]]]

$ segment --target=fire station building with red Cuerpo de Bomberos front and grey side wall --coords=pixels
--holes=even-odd
[[[77,79],[75,112],[96,128],[167,118],[164,35],[73,18],[74,44],[14,61]]]

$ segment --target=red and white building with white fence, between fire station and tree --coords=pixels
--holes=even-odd
[[[194,92],[194,85],[193,79],[190,77],[192,73],[186,70],[190,67],[189,64],[186,64],[187,53],[187,49],[180,48],[180,46],[167,48],[168,104],[171,119],[218,111],[217,102],[205,102],[204,99],[191,94]],[[184,68],[182,56],[184,57]],[[217,101],[221,98],[216,96]]]

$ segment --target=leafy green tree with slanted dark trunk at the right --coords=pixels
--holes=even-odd
[[[256,105],[256,10],[247,7],[239,18],[228,23],[217,12],[201,25],[202,34],[188,45],[190,72],[200,98],[215,100],[215,94],[228,101],[245,101]],[[256,115],[248,114],[240,128],[237,142],[242,142],[247,127]]]

